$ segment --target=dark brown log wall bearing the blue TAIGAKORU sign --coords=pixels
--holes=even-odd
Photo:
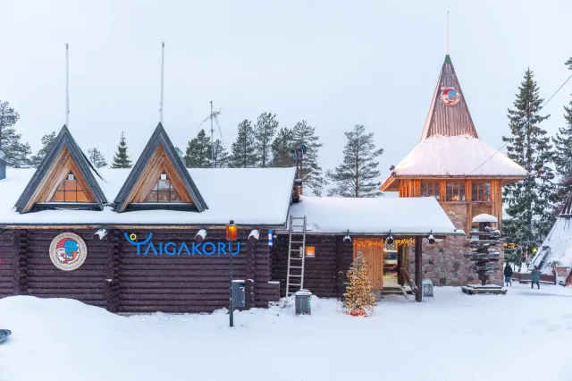
[[[72,298],[113,312],[210,312],[228,307],[229,257],[187,255],[156,256],[151,250],[137,256],[137,247],[124,233],[147,238],[149,231],[111,229],[103,239],[95,229],[68,230],[86,242],[88,257],[73,271],[63,271],[49,258],[51,241],[61,230],[4,230],[0,233],[0,297],[29,294],[38,297]],[[198,229],[151,230],[153,241],[189,245]],[[224,229],[207,228],[206,241],[225,241]],[[254,237],[252,228],[241,227],[240,254],[232,258],[233,278],[247,282],[250,307],[267,307],[280,298],[278,284],[270,281],[270,262],[265,240]],[[267,231],[260,230],[260,237]],[[139,240],[140,241],[140,240]],[[147,246],[147,245],[146,245]],[[145,247],[146,247],[145,246]],[[143,250],[145,248],[142,246]],[[233,250],[236,250],[236,242]],[[6,265],[7,264],[7,265]]]

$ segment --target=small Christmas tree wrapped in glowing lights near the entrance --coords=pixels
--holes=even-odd
[[[353,316],[370,315],[374,312],[375,296],[372,284],[367,277],[367,261],[364,254],[359,251],[354,262],[349,267],[348,285],[343,294],[344,312]]]

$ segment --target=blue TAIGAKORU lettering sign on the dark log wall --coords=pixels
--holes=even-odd
[[[153,233],[149,233],[147,240],[137,241],[137,235],[134,233],[127,234],[124,233],[125,239],[130,242],[131,245],[137,246],[137,255],[148,255],[152,253],[153,255],[169,255],[169,256],[180,256],[180,255],[206,255],[218,257],[222,255],[232,254],[232,257],[236,257],[240,253],[240,242],[236,242],[235,245],[228,241],[205,241],[205,242],[154,242]],[[234,251],[232,251],[234,250]]]

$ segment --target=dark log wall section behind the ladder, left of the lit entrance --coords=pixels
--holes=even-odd
[[[306,246],[315,247],[315,257],[307,257],[304,288],[319,297],[341,297],[346,273],[352,262],[353,247],[343,236],[307,235]],[[288,272],[288,235],[279,235],[271,250],[272,280],[280,282],[280,294],[286,293]]]

